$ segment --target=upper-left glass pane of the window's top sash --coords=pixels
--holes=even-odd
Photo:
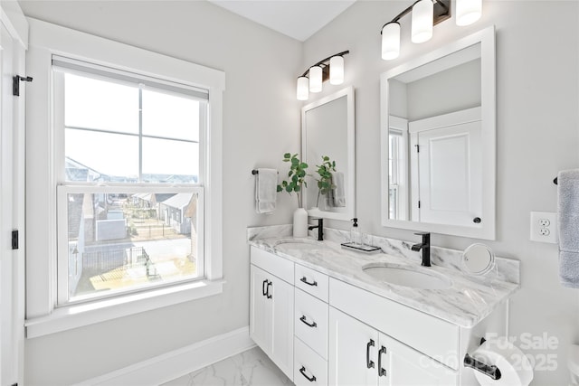
[[[64,126],[138,134],[138,87],[64,74]]]

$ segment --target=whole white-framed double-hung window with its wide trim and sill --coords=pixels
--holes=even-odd
[[[222,127],[225,73],[40,20],[31,19],[29,24],[34,33],[31,33],[26,52],[26,70],[36,75],[35,87],[26,92],[26,336],[33,338],[53,334],[223,292]],[[65,78],[69,76],[87,82],[100,80],[101,83],[93,82],[93,87],[100,84],[112,90],[108,89],[107,98],[84,104],[88,109],[76,118],[72,119],[74,116],[71,116],[72,120],[66,119],[65,112],[72,113],[71,107],[66,111],[64,99]],[[151,93],[147,94],[149,91]],[[139,102],[127,97],[119,101],[117,97],[121,92],[126,92],[128,96],[140,92],[142,100]],[[96,94],[90,97],[96,98]],[[160,103],[153,103],[151,98],[155,97],[176,99],[171,99],[168,106],[150,111],[147,106],[161,106]],[[198,109],[186,111],[191,120],[196,120],[192,117],[198,114],[198,133],[195,125],[185,133],[182,128],[173,125],[176,110],[177,113],[185,113],[178,111],[184,108],[179,108],[182,105],[177,99],[185,104],[198,103]],[[139,103],[148,111],[144,115],[138,108]],[[111,110],[118,112],[118,118],[110,118]],[[159,128],[156,120],[167,125]],[[65,126],[65,121],[69,127]],[[170,129],[168,123],[171,123]],[[149,124],[152,126],[147,126]],[[106,137],[107,146],[98,147],[97,141],[90,139],[90,144],[94,146],[85,146],[85,151],[75,155],[72,155],[74,150],[69,148],[70,157],[67,158],[67,130],[69,136],[84,133],[92,137]],[[127,144],[120,146],[131,140],[139,146],[130,149]],[[177,154],[180,146],[194,149],[193,154]],[[95,149],[100,149],[96,164],[89,165],[88,158],[84,160],[87,164],[74,159],[74,156],[88,156]],[[170,162],[155,162],[160,153],[166,155]],[[132,156],[129,158],[130,154]],[[117,163],[111,171],[105,170],[107,158]],[[154,162],[151,164],[149,160]],[[103,170],[99,170],[101,168]],[[147,179],[148,174],[157,174],[159,182]],[[161,178],[159,174],[166,175]],[[178,205],[176,201],[180,201],[184,193],[191,194],[191,200],[186,202],[186,206],[175,208]],[[161,208],[158,203],[162,194],[176,197],[172,207],[158,209]],[[138,195],[145,198],[155,195],[157,204],[151,202],[148,212],[145,208],[123,208],[123,205],[137,205],[134,202],[143,198]],[[129,196],[135,200],[132,201]],[[72,200],[71,211],[80,208],[81,214],[69,211]],[[81,207],[80,202],[86,206]],[[140,204],[144,205],[143,202]],[[108,208],[106,218],[102,211],[105,205]],[[196,217],[192,212],[194,209]],[[105,222],[100,223],[100,240],[105,237],[103,231],[119,236],[115,232],[120,232],[122,226],[131,232],[126,210],[137,217],[157,215],[172,219],[170,225],[166,221],[165,231],[170,231],[171,227],[177,232],[180,224],[186,227],[188,222],[194,229],[197,226],[196,237],[188,243],[191,251],[197,252],[195,274],[183,277],[167,275],[167,264],[157,264],[151,258],[152,253],[149,253],[152,250],[145,248],[147,256],[155,264],[152,268],[149,264],[147,277],[147,257],[141,249],[132,249],[140,245],[130,245],[130,249],[119,251],[116,259],[118,264],[122,259],[123,265],[138,263],[137,268],[129,267],[129,272],[147,278],[143,283],[81,292],[78,290],[80,287],[75,288],[77,278],[79,282],[81,280],[83,268],[78,236],[81,226],[95,227],[88,234],[96,235],[96,220],[90,220],[90,215],[85,216],[87,212],[82,212],[85,210],[102,216],[98,219],[100,221],[110,220],[111,224],[115,224],[105,225],[103,229],[101,224]],[[77,218],[78,224],[69,223],[69,214],[72,219]],[[81,218],[85,221],[78,220]],[[142,225],[138,221],[145,219],[136,220],[133,221],[135,228],[137,224]],[[150,239],[163,237],[163,229],[162,223],[158,223],[157,229],[151,225]],[[148,228],[146,232],[140,231],[140,236],[149,237]],[[184,235],[179,237],[184,238]],[[137,244],[139,241],[131,242]],[[101,240],[103,246],[107,243],[115,244],[118,240]],[[115,257],[109,256],[111,259],[114,262]],[[157,268],[157,273],[154,268]]]

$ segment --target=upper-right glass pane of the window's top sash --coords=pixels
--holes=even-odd
[[[143,89],[143,135],[199,141],[199,103]]]

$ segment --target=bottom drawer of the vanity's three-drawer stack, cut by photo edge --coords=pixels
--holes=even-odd
[[[296,386],[327,385],[327,362],[298,338],[295,339],[293,381]]]

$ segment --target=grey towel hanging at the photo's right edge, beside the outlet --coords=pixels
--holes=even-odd
[[[579,169],[557,175],[559,277],[565,287],[579,288]]]

